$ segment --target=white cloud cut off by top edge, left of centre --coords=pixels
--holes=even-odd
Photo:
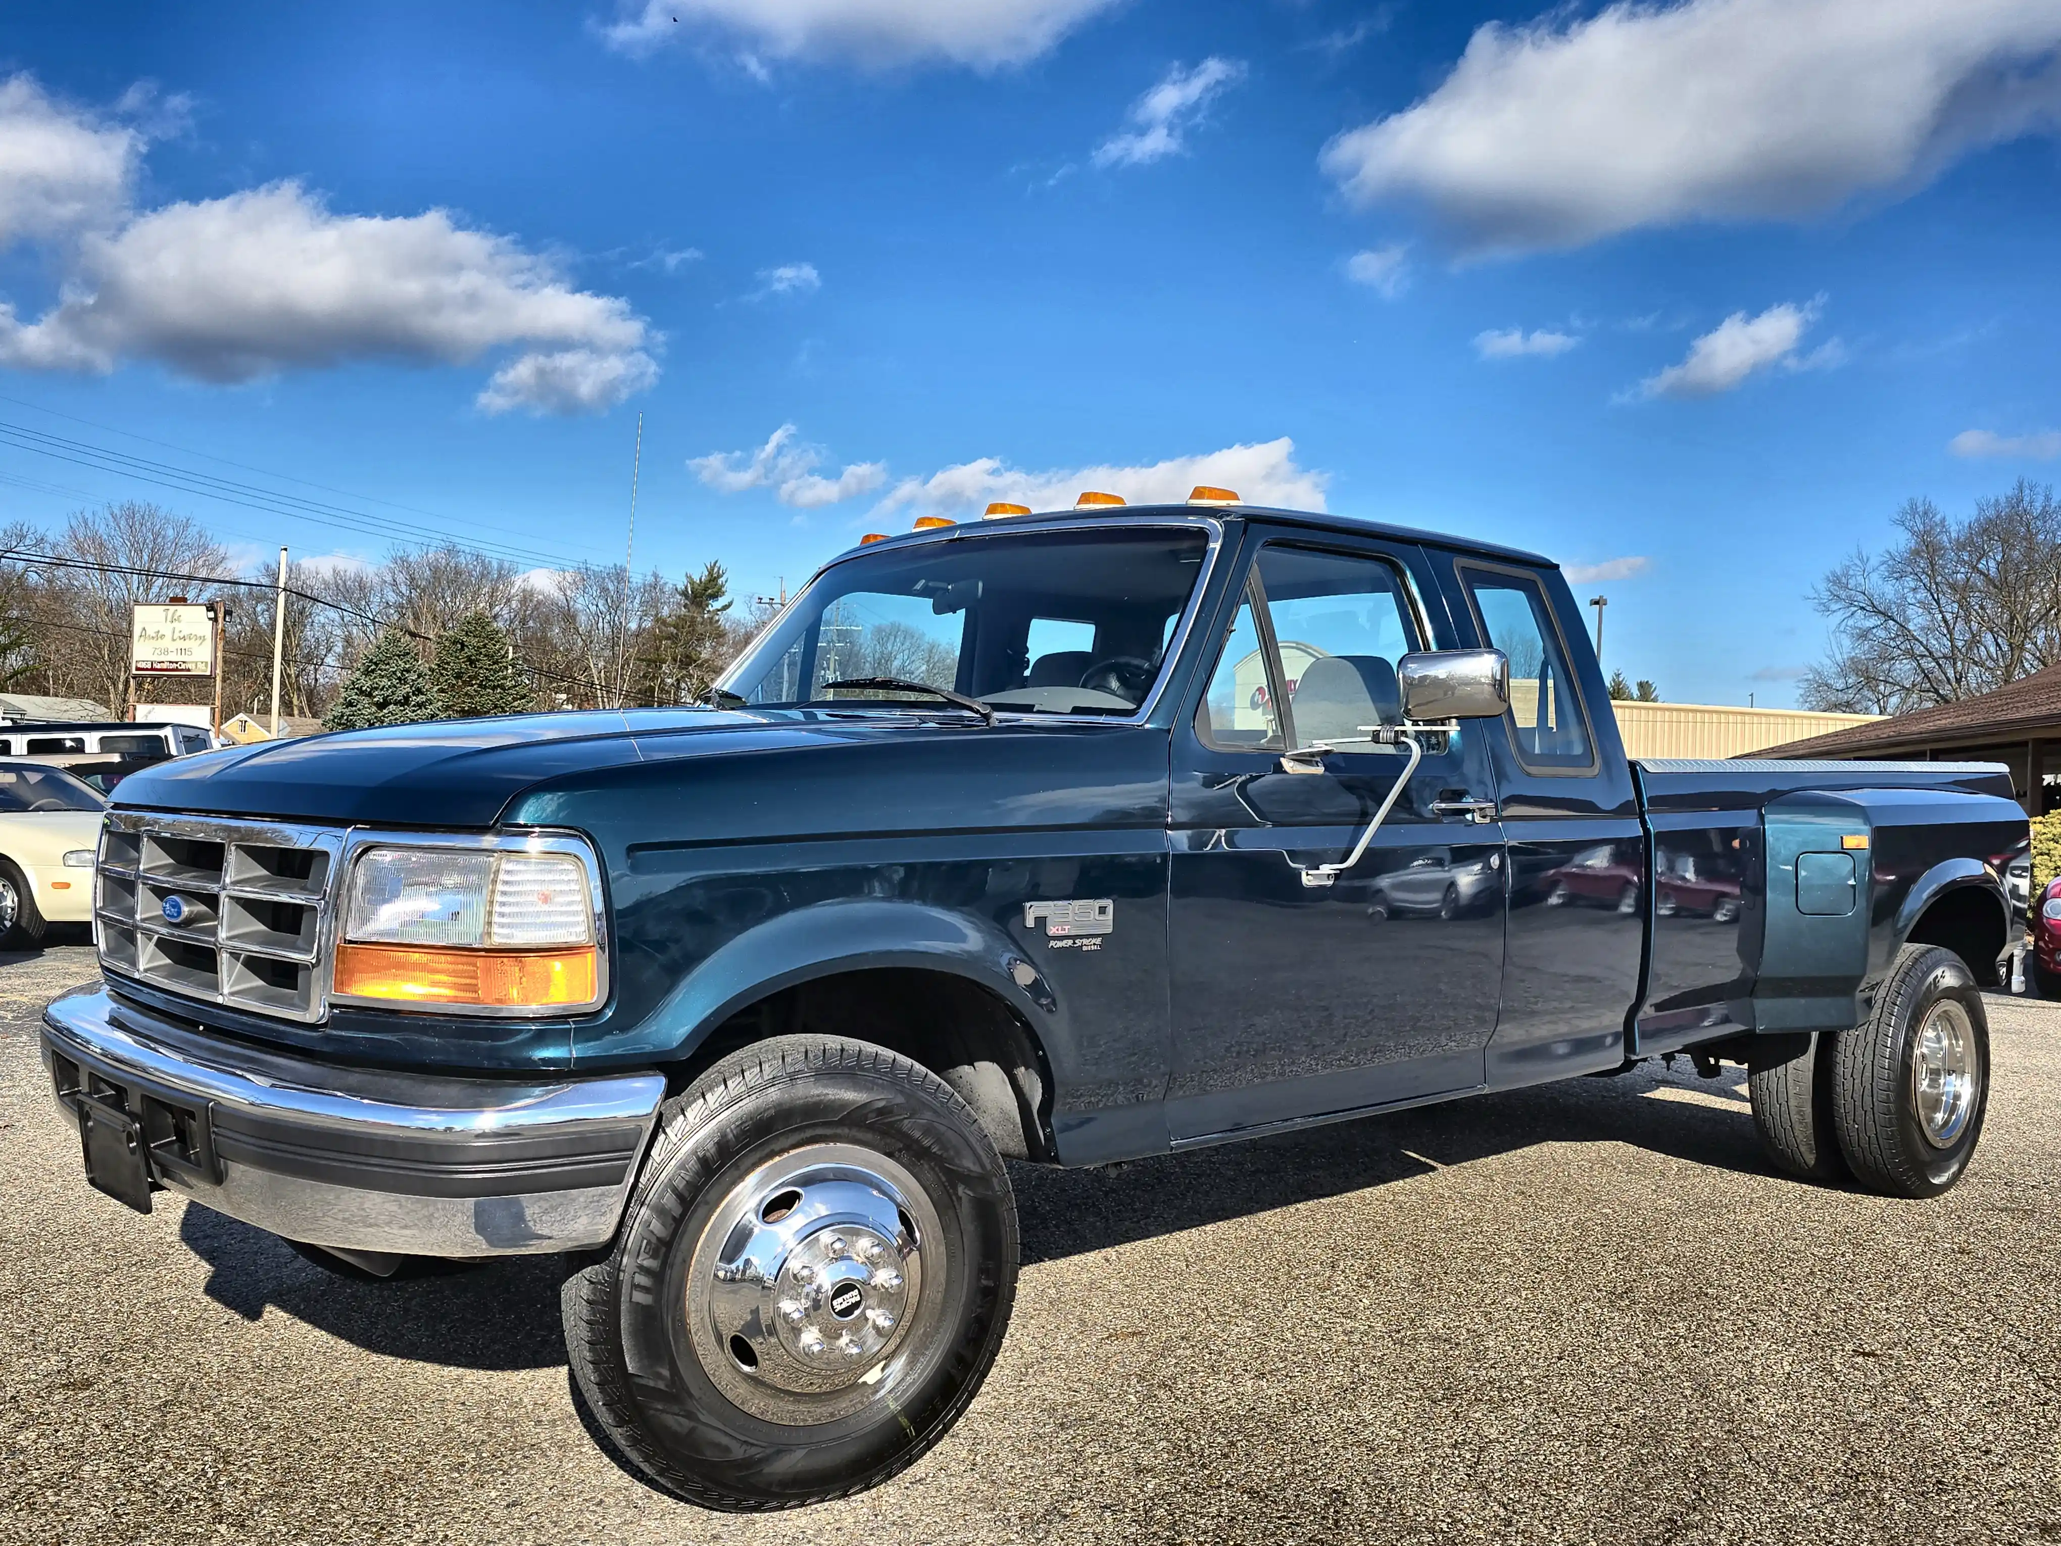
[[[998,70],[1049,52],[1119,0],[629,0],[604,37],[647,54],[682,31],[717,31],[758,56],[861,66],[913,62]]]

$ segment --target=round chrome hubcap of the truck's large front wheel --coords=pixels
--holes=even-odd
[[[769,1422],[835,1422],[886,1393],[938,1321],[938,1214],[907,1169],[855,1144],[767,1161],[717,1204],[688,1264],[688,1342]]]

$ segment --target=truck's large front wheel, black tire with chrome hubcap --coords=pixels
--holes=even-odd
[[[995,1360],[1016,1204],[936,1074],[777,1037],[668,1103],[608,1255],[563,1295],[573,1377],[622,1455],[713,1509],[911,1466]]]

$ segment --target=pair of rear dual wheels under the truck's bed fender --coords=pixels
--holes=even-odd
[[[1754,1125],[1775,1165],[1890,1198],[1952,1187],[1983,1136],[1989,1016],[1966,963],[1906,944],[1865,1022],[1756,1055]]]

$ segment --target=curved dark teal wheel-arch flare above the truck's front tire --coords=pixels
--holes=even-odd
[[[1043,973],[993,923],[927,903],[853,897],[781,913],[713,950],[653,1012],[653,1045],[692,1053],[746,1004],[876,967],[946,971],[987,987],[1030,1027],[1039,1055],[1039,1027],[1066,1020]]]

